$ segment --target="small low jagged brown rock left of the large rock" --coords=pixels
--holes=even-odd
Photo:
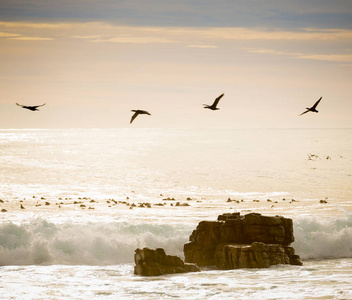
[[[164,274],[198,272],[195,264],[184,263],[178,256],[166,255],[164,249],[136,249],[134,274],[142,276],[159,276]]]

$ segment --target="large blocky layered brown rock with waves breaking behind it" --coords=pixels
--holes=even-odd
[[[202,221],[184,245],[185,261],[218,269],[302,265],[295,250],[291,219],[250,213],[223,214]]]

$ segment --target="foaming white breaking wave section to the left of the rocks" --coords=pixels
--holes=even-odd
[[[5,223],[0,226],[0,265],[132,263],[138,247],[161,247],[182,257],[191,231],[185,226],[127,222]]]

